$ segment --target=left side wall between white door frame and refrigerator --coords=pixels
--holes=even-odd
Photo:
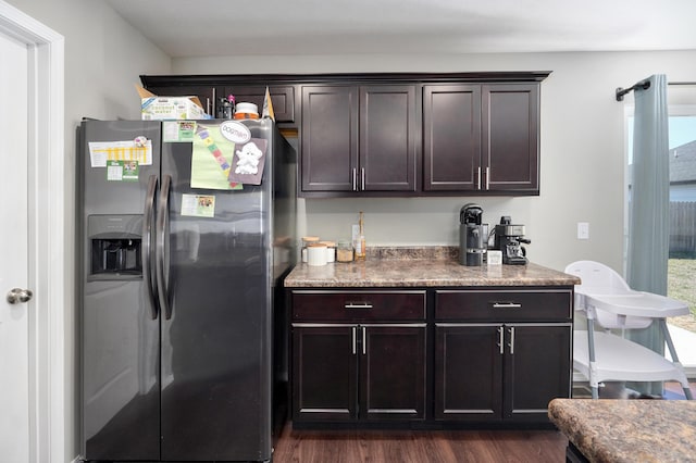
[[[140,74],[166,74],[171,60],[134,30],[102,1],[7,0],[22,12],[65,37],[65,252],[61,259],[74,262],[75,127],[83,116],[138,118],[140,104],[134,84]],[[2,64],[7,65],[7,63]],[[72,265],[74,267],[74,264]],[[74,287],[74,274],[66,276]],[[64,308],[65,333],[65,459],[78,452],[78,383],[76,313],[74,300]],[[1,460],[1,458],[0,458]]]

